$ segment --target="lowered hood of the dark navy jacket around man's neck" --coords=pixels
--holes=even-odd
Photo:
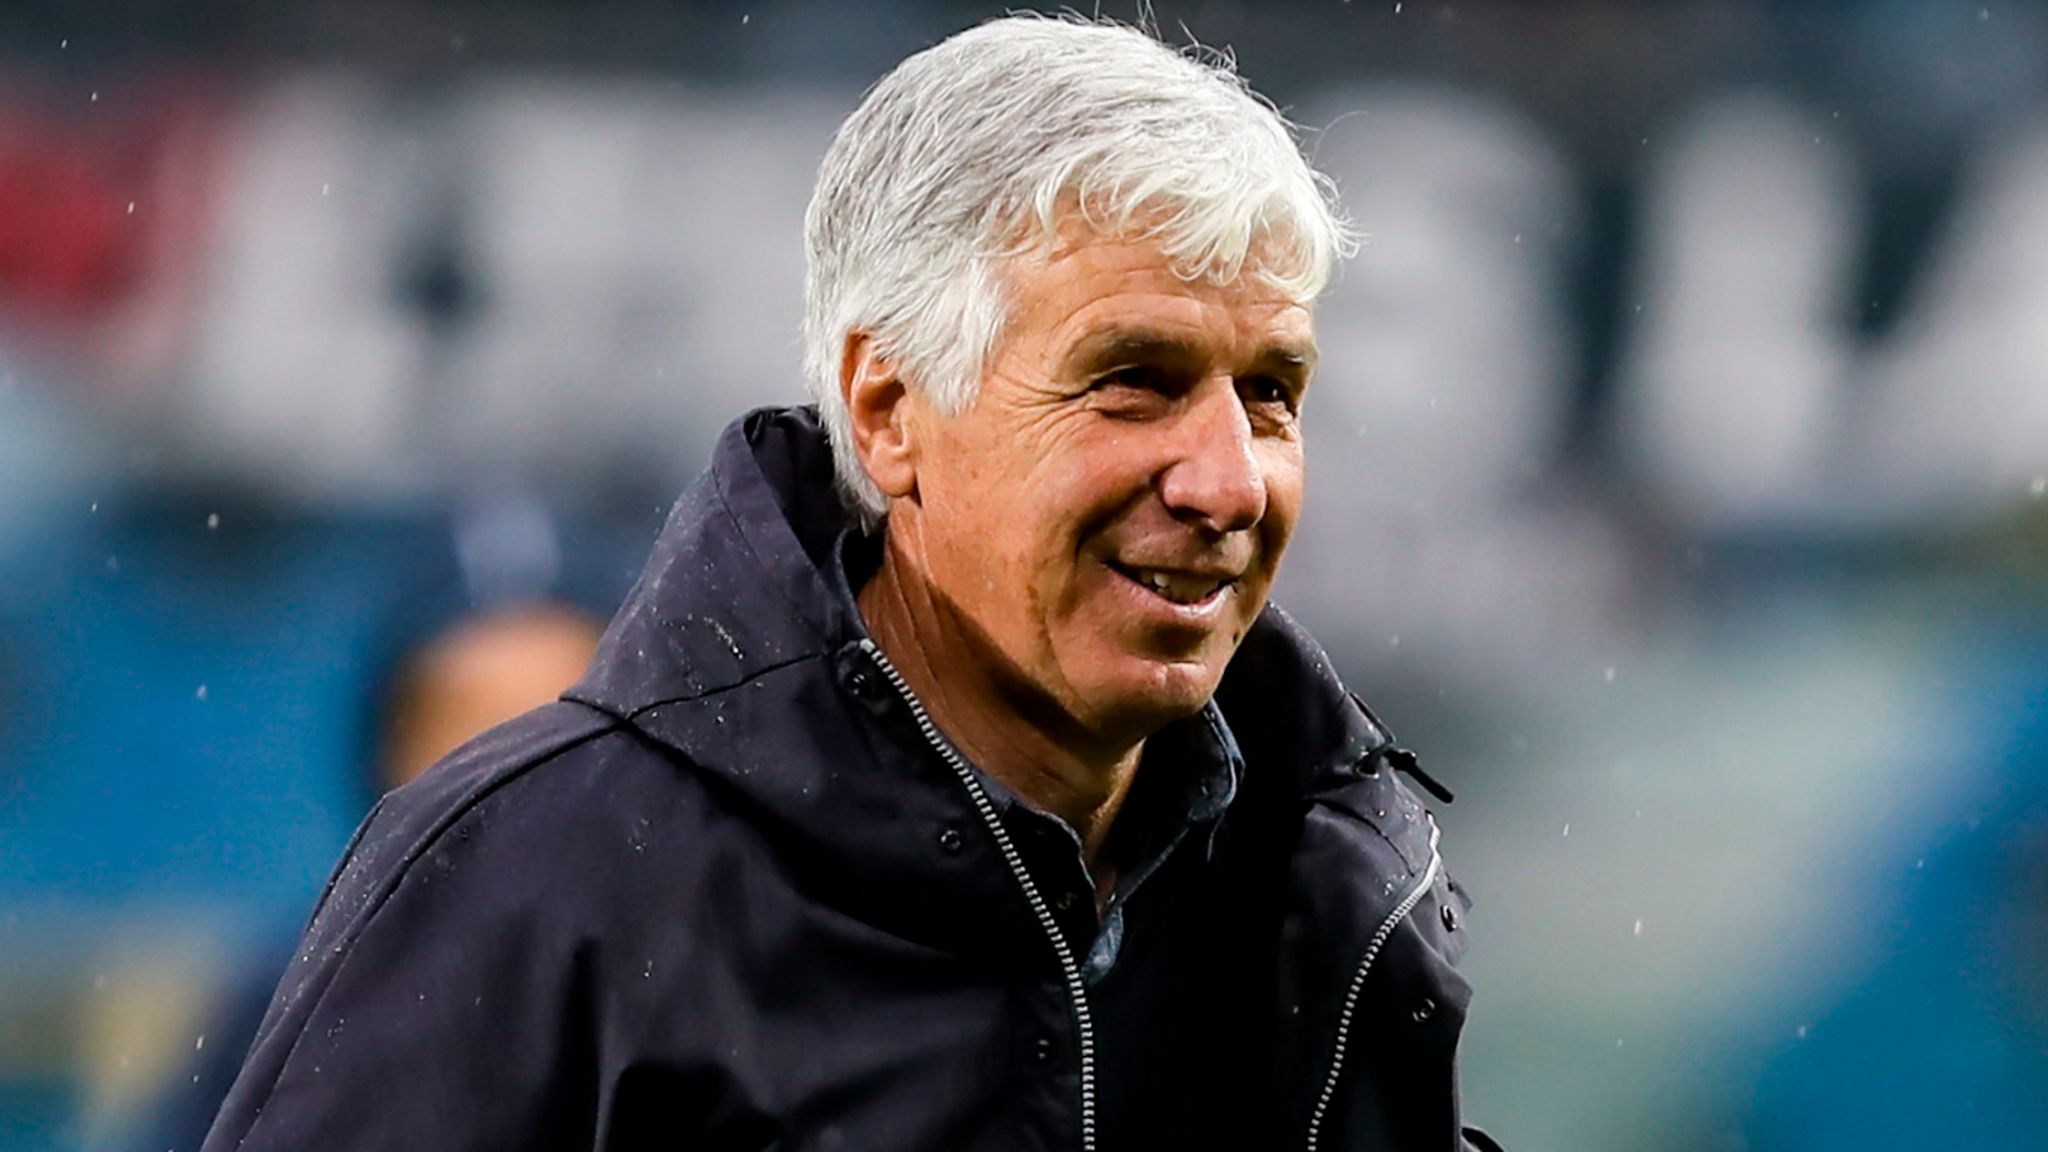
[[[866,627],[827,568],[848,525],[815,408],[735,420],[567,699],[629,722],[758,818],[825,849],[840,881],[899,900],[934,867],[932,830],[973,812],[901,701],[860,674]],[[1319,777],[1386,744],[1276,607],[1245,635],[1217,703],[1247,783],[1268,795],[1313,795]],[[793,740],[823,754],[793,754]],[[979,896],[1018,900],[999,861],[987,863]]]

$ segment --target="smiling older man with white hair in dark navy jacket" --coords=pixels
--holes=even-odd
[[[371,816],[207,1148],[1458,1148],[1464,898],[1266,605],[1348,246],[1284,121],[1004,18],[807,240],[817,408]]]

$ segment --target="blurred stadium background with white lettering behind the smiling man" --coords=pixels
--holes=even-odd
[[[838,119],[999,8],[0,12],[0,1152],[197,1144],[375,793],[801,400]],[[2048,1148],[2048,6],[1149,8],[1368,236],[1280,601],[1458,791],[1470,1117]]]

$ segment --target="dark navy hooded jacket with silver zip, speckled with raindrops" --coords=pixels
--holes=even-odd
[[[842,527],[811,410],[729,428],[590,674],[356,832],[207,1150],[1458,1150],[1466,900],[1321,650],[1245,637],[1237,795],[1083,982]]]

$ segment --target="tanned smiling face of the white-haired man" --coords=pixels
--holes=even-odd
[[[1311,316],[1077,230],[1008,285],[975,404],[915,406],[905,512],[1020,705],[1145,736],[1208,701],[1266,605],[1300,515]]]

